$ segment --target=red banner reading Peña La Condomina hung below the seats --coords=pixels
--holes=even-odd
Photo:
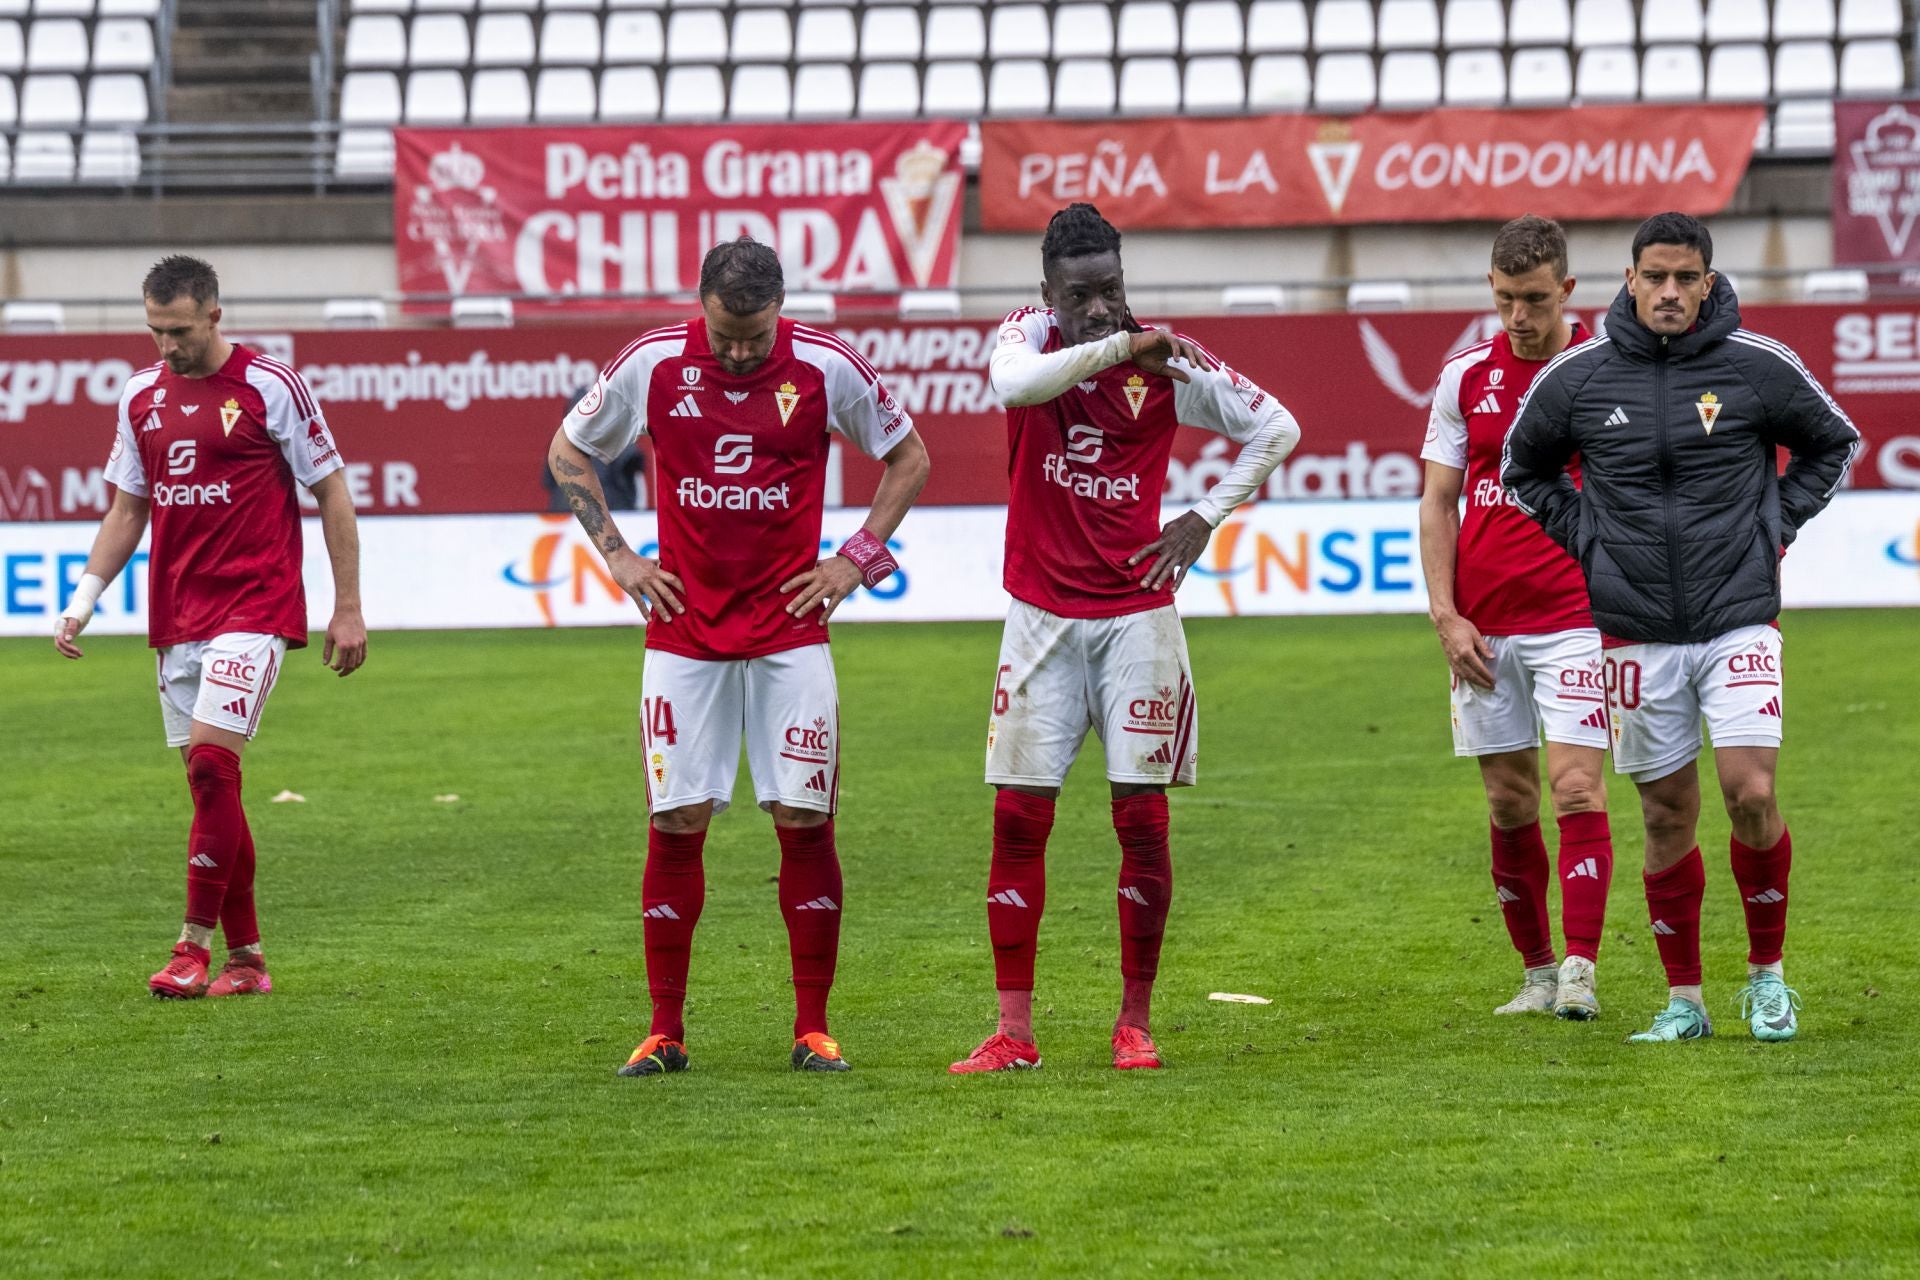
[[[1091,200],[1127,228],[1716,213],[1764,107],[985,121],[987,230]]]

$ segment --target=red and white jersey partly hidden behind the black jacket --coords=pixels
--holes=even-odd
[[[1574,324],[1574,344],[1588,336]],[[1427,420],[1421,457],[1467,472],[1453,606],[1482,635],[1594,626],[1580,566],[1500,486],[1507,428],[1542,368],[1546,361],[1523,361],[1505,332],[1494,334],[1448,357]],[[1580,484],[1578,459],[1567,472]]]

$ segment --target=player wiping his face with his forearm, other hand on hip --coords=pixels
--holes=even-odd
[[[1121,1002],[1114,1065],[1158,1067],[1148,1029],[1173,894],[1167,787],[1198,756],[1192,672],[1173,591],[1213,528],[1260,491],[1300,439],[1271,395],[1188,338],[1127,311],[1119,232],[1089,203],[1052,217],[1041,244],[1046,309],[1000,324],[993,388],[1006,403],[1006,589],[987,727],[993,938],[1000,1025],[956,1075],[1039,1067],[1033,956],[1046,904],[1054,800],[1087,731],[1106,745],[1119,835]],[[1192,510],[1160,524],[1177,426],[1242,445]]]

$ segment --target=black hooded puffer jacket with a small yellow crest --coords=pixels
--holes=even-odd
[[[1791,453],[1786,474],[1776,445]],[[1605,336],[1534,378],[1500,480],[1586,568],[1594,626],[1684,645],[1780,614],[1780,551],[1859,447],[1799,357],[1740,328],[1720,276],[1676,338],[1645,328],[1622,288]]]

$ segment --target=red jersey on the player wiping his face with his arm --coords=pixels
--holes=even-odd
[[[998,342],[1041,353],[1066,345],[1050,307],[1020,307],[1000,322]],[[1175,428],[1246,443],[1273,416],[1265,391],[1213,363],[1181,382],[1121,361],[1043,405],[1006,411],[1008,595],[1062,618],[1117,618],[1173,603],[1171,583],[1142,591],[1150,560],[1127,564],[1127,557],[1160,537]]]

